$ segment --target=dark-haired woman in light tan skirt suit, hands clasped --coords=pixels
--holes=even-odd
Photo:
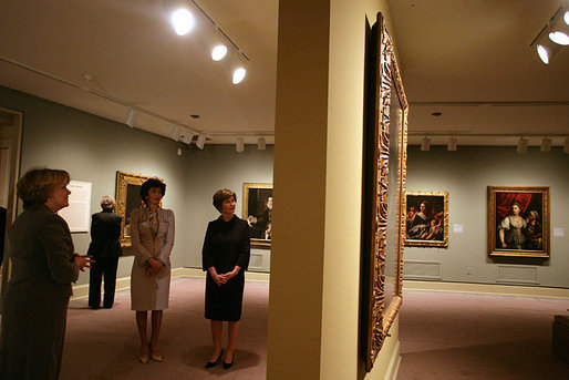
[[[136,325],[141,336],[138,360],[145,364],[148,358],[163,361],[158,351],[163,310],[168,308],[170,261],[174,246],[174,213],[159,207],[166,185],[156,178],[141,187],[146,205],[131,214],[131,239],[135,259],[131,274],[132,310],[136,311]],[[146,335],[147,311],[152,310],[152,335]]]

